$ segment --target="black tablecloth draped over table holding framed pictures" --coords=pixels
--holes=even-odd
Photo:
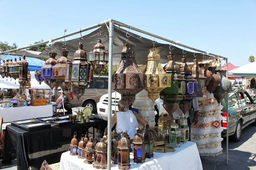
[[[81,135],[86,134],[90,127],[96,129],[100,127],[100,130],[104,131],[107,121],[92,120],[95,121],[90,123],[74,122],[71,125],[30,132],[8,125],[5,132],[2,163],[9,163],[17,157],[18,170],[26,170],[30,166],[39,169],[44,160],[49,164],[59,162],[61,154],[70,149],[74,132],[77,133],[77,138],[80,140]]]

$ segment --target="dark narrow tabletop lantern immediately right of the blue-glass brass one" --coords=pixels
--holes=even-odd
[[[154,147],[154,137],[152,131],[150,131],[149,126],[145,126],[146,129],[144,131],[144,142],[145,142],[145,157],[151,158],[153,157],[153,147]]]

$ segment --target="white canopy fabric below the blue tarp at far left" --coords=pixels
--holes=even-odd
[[[31,88],[32,89],[50,89],[50,87],[47,84],[45,84],[44,82],[39,84],[39,82],[36,80],[34,71],[30,71],[30,74],[31,74]],[[6,81],[6,79],[7,79],[7,81]],[[16,84],[15,84],[15,82],[16,82]],[[19,79],[16,79],[16,81],[15,81],[14,78],[10,78],[10,77],[2,78],[2,76],[0,76],[0,88],[18,89],[18,88],[20,88]]]

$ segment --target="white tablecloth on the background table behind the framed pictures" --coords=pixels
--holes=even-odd
[[[24,106],[0,109],[0,117],[4,122],[52,116],[52,105]]]

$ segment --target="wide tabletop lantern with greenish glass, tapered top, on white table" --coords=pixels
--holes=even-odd
[[[173,120],[170,129],[168,129],[168,143],[167,145],[170,147],[180,147],[180,137],[181,132],[175,120]]]

